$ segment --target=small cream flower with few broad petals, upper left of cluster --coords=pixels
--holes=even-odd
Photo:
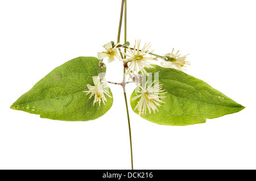
[[[98,52],[98,59],[103,59],[106,57],[109,57],[108,62],[113,62],[115,60],[115,57],[117,57],[119,60],[121,60],[121,57],[118,55],[117,46],[119,43],[117,43],[114,47],[112,47],[112,43],[109,42],[105,44],[103,47],[106,49],[106,52]]]

